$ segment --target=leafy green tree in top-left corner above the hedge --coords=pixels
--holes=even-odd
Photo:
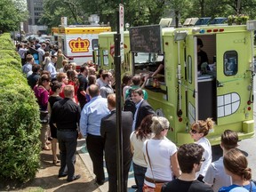
[[[22,4],[22,0],[0,1],[0,31],[11,32],[18,30],[20,22],[28,20],[28,11]]]

